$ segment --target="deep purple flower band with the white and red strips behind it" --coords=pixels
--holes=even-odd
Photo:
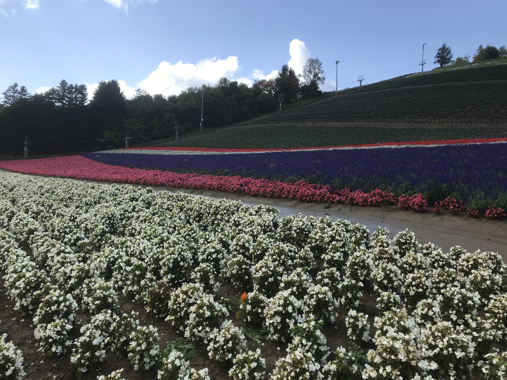
[[[469,215],[480,216],[490,207],[507,209],[506,140],[414,141],[273,150],[154,147],[83,156],[115,166],[251,176],[293,183],[304,181],[331,186],[335,193],[350,189],[365,194],[380,188],[388,190],[395,198],[403,194],[422,194],[430,205],[438,202],[442,206],[441,202],[455,198],[462,202],[462,211],[469,208],[472,210]],[[312,201],[311,198],[304,200]],[[318,200],[369,204],[344,199],[335,201],[329,196]],[[389,204],[390,199],[385,199],[384,203]],[[445,209],[452,211],[449,207]]]

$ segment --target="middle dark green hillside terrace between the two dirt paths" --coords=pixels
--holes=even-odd
[[[505,124],[506,88],[507,81],[497,81],[350,93],[273,113],[243,125],[295,122]]]

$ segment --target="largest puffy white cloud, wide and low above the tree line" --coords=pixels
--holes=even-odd
[[[138,86],[151,94],[177,95],[188,87],[213,85],[222,77],[231,78],[238,67],[238,57],[234,56],[203,59],[195,65],[182,61],[171,65],[164,61]]]

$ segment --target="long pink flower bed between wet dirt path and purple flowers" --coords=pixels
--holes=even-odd
[[[0,168],[25,173],[62,176],[96,181],[138,183],[151,186],[207,189],[227,193],[246,194],[266,198],[283,198],[303,202],[349,203],[353,205],[379,205],[400,203],[405,210],[424,212],[426,197],[415,195],[397,199],[392,193],[375,189],[372,192],[334,191],[330,186],[298,181],[296,183],[268,179],[182,174],[160,170],[146,170],[102,164],[82,156],[56,157],[35,160],[0,162]]]

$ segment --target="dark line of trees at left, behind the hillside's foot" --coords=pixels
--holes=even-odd
[[[260,80],[251,87],[221,78],[213,86],[189,87],[179,95],[151,95],[136,89],[127,99],[118,81],[101,81],[88,100],[86,85],[65,80],[41,94],[30,94],[14,83],[2,93],[0,102],[0,154],[19,156],[25,136],[30,155],[63,154],[117,148],[125,131],[131,144],[249,120],[278,109],[284,103],[318,97],[325,81],[322,63],[309,58],[303,74],[283,65],[272,80]],[[201,102],[202,101],[202,102]]]

